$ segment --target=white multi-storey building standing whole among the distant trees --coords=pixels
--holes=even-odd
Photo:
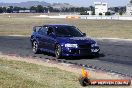
[[[103,2],[94,2],[95,5],[95,15],[105,15],[108,12],[108,4]]]

